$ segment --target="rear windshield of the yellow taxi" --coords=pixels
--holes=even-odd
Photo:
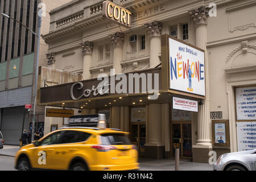
[[[131,144],[129,138],[124,134],[102,134],[101,144],[103,145],[122,145]]]

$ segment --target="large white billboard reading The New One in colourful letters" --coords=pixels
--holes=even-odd
[[[205,96],[205,53],[169,38],[170,89]]]

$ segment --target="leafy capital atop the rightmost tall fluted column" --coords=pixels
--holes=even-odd
[[[209,10],[209,7],[201,6],[193,10],[188,10],[188,12],[196,26],[199,26],[200,24],[207,25],[206,20],[209,17]]]

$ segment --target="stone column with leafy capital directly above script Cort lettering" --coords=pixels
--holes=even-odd
[[[92,65],[93,42],[84,42],[81,44],[84,53],[84,67],[82,69],[84,80],[90,80],[90,67]]]

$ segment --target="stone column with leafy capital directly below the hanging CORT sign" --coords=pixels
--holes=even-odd
[[[123,43],[125,40],[125,34],[122,32],[117,32],[115,34],[109,35],[111,39],[111,44],[114,47],[113,51],[113,69],[115,69],[115,75],[122,73],[121,61],[123,59]]]

